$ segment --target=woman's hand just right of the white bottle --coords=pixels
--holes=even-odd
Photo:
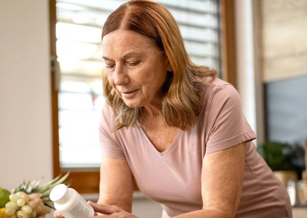
[[[132,213],[129,213],[117,206],[114,205],[106,205],[106,204],[95,204],[94,202],[87,202],[89,203],[95,212],[100,213],[98,216],[94,217],[113,217],[113,218],[139,218]],[[60,218],[60,217],[56,217]]]

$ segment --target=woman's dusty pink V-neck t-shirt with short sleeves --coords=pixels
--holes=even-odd
[[[201,97],[203,108],[195,124],[190,131],[180,130],[164,152],[153,146],[140,125],[113,132],[114,112],[106,105],[99,128],[102,155],[126,159],[140,191],[161,203],[163,217],[171,217],[202,209],[204,156],[246,142],[243,190],[235,217],[292,217],[286,188],[255,150],[256,136],[236,89],[215,79],[203,86]]]

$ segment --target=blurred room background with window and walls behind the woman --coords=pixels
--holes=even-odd
[[[124,2],[0,1],[0,187],[70,171],[72,187],[97,201],[101,29]],[[156,2],[178,21],[191,60],[236,87],[257,150],[288,187],[294,213],[307,215],[307,1]],[[161,216],[136,185],[133,211]]]

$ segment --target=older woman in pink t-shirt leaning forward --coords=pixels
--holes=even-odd
[[[99,201],[90,203],[100,217],[136,217],[133,177],[163,217],[292,217],[286,189],[255,150],[238,92],[190,61],[166,8],[121,5],[102,44],[103,158]]]

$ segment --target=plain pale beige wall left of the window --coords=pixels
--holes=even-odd
[[[0,1],[0,186],[52,178],[48,0]]]

